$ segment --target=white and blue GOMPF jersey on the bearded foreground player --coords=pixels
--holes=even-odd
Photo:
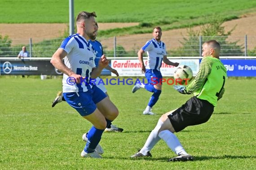
[[[89,85],[88,82],[90,80],[92,68],[96,67],[92,45],[87,42],[83,36],[73,34],[64,39],[60,48],[67,52],[67,55],[64,58],[65,65],[76,74],[85,77],[85,79],[81,81],[82,83],[73,85],[72,82],[70,82],[71,78],[68,75],[63,74],[63,92],[86,92],[91,89],[92,85]]]

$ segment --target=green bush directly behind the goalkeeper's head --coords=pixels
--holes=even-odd
[[[230,31],[225,33],[225,27],[221,26],[224,20],[211,19],[209,24],[203,25],[199,31],[189,28],[187,33],[189,37],[183,36],[183,41],[180,42],[182,47],[172,50],[173,56],[200,56],[200,47],[202,43],[211,39],[215,39],[221,44],[222,56],[241,56],[244,54],[244,47],[237,45],[238,41],[229,42],[227,38],[231,35]]]

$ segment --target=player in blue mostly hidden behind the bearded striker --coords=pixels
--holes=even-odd
[[[95,25],[97,26],[97,31],[98,31],[99,27],[98,27],[97,22],[96,22]],[[92,46],[93,46],[93,51],[94,51],[94,54],[96,56],[95,59],[94,59],[94,62],[95,62],[96,67],[98,67],[99,60],[101,59],[101,57],[103,55],[103,47],[102,47],[102,44],[96,40],[96,37],[97,37],[97,32],[95,34],[95,37],[90,38],[89,43],[92,44]],[[119,76],[118,72],[115,69],[111,68],[109,65],[106,66],[106,69],[109,70],[110,72],[113,72],[116,76]],[[99,83],[99,81],[100,81],[100,77],[97,77],[95,84],[109,98],[109,95],[107,93],[107,90],[106,90],[105,86],[103,84]],[[62,91],[59,91],[57,93],[57,97],[52,102],[52,107],[54,107],[57,103],[62,102],[62,101],[65,101],[65,98],[63,98]],[[116,127],[112,123],[109,123],[108,127],[106,127],[106,129],[105,129],[105,132],[123,132],[123,131],[124,131],[123,128]],[[83,139],[84,139],[84,137],[83,137]]]

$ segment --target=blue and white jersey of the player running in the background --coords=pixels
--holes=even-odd
[[[148,63],[146,69],[156,69],[160,71],[163,55],[166,55],[165,45],[162,41],[158,43],[154,38],[149,40],[142,48],[147,52]]]

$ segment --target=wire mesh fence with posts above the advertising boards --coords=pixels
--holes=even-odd
[[[150,40],[152,35],[138,38],[129,37],[97,38],[102,43],[108,57],[137,57],[137,51]],[[221,56],[256,56],[256,36],[219,36],[219,37],[162,37],[168,56],[201,56],[202,43],[216,39],[221,44]],[[31,57],[51,57],[60,47],[62,38],[55,39],[0,39],[0,57],[17,57],[22,46],[27,47]]]

